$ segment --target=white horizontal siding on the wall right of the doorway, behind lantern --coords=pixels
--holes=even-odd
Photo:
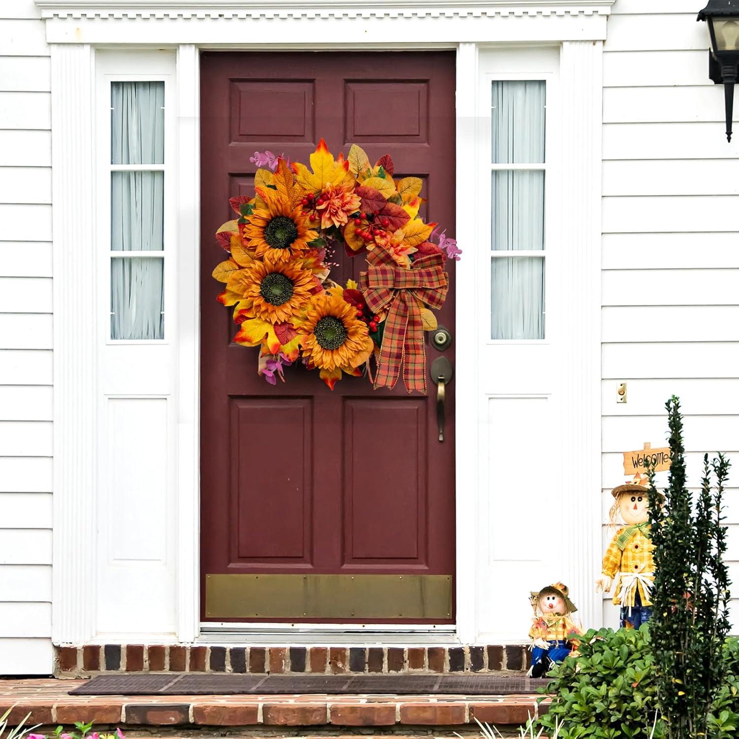
[[[664,402],[679,395],[689,485],[699,484],[705,452],[726,452],[735,465],[727,556],[739,582],[739,134],[726,142],[723,87],[708,78],[699,9],[690,0],[616,0],[608,20],[602,545],[610,539],[610,490],[624,480],[621,452],[666,444]],[[625,404],[616,403],[621,382]],[[617,620],[605,596],[605,624]]]

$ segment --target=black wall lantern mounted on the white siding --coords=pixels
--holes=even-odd
[[[711,52],[708,76],[715,84],[723,84],[726,100],[726,138],[732,140],[734,85],[739,65],[739,0],[709,0],[698,13],[699,21],[708,21]]]

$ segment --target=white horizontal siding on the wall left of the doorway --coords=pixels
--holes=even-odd
[[[0,4],[0,674],[52,672],[50,56]]]

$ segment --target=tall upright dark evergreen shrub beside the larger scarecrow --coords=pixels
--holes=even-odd
[[[723,564],[723,490],[729,461],[704,457],[701,493],[687,488],[680,401],[667,401],[672,464],[664,503],[650,471],[650,520],[655,582],[650,620],[658,704],[668,739],[706,736],[708,717],[725,678],[729,576]],[[715,476],[715,485],[712,477]]]

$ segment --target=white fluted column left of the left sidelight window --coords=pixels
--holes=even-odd
[[[54,554],[52,639],[95,630],[95,53],[52,44]]]

